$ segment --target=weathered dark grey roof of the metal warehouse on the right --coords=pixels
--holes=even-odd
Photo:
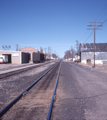
[[[79,52],[94,52],[94,43],[80,43]],[[95,43],[95,52],[107,52],[107,43]]]

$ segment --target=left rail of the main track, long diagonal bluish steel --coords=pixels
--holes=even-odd
[[[58,62],[59,63],[59,62]],[[26,88],[21,94],[19,94],[14,100],[12,100],[8,105],[6,105],[0,111],[0,119],[1,117],[26,93],[28,92],[40,79],[42,79],[51,69],[53,69],[58,63],[52,66],[49,70],[47,70],[42,76],[40,76],[35,82],[33,82],[28,88]]]

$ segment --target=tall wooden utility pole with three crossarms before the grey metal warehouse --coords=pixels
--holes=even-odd
[[[88,22],[88,23],[93,23],[94,25],[87,25],[89,27],[94,27],[94,28],[87,28],[88,30],[94,30],[94,65],[93,67],[95,67],[95,35],[96,35],[96,30],[102,30],[101,28],[98,27],[102,27],[102,25],[96,25],[97,23],[102,23],[102,22]],[[96,28],[97,27],[97,28]]]

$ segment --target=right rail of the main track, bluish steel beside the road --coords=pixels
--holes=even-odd
[[[59,68],[58,76],[57,76],[57,79],[56,79],[55,88],[54,88],[54,92],[53,92],[53,95],[52,95],[52,99],[51,99],[51,103],[50,103],[50,107],[49,107],[49,111],[48,111],[48,115],[47,115],[46,120],[50,120],[50,118],[51,118],[52,106],[53,106],[53,102],[54,102],[54,95],[56,93],[56,88],[57,88],[57,84],[58,84],[60,70],[61,70],[61,64],[60,64],[60,68]]]

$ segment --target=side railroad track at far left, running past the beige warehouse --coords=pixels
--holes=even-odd
[[[0,73],[0,79],[3,79],[5,77],[9,77],[9,76],[12,76],[12,75],[15,75],[15,74],[19,74],[19,73],[22,73],[22,72],[25,72],[27,70],[30,70],[30,69],[33,69],[33,68],[36,68],[36,67],[40,67],[42,65],[46,65],[50,62],[46,62],[46,63],[41,63],[41,64],[30,64],[30,65],[24,65],[24,66],[20,66],[20,67],[17,67],[16,69],[11,69],[11,70],[7,70],[6,71],[3,71]]]

